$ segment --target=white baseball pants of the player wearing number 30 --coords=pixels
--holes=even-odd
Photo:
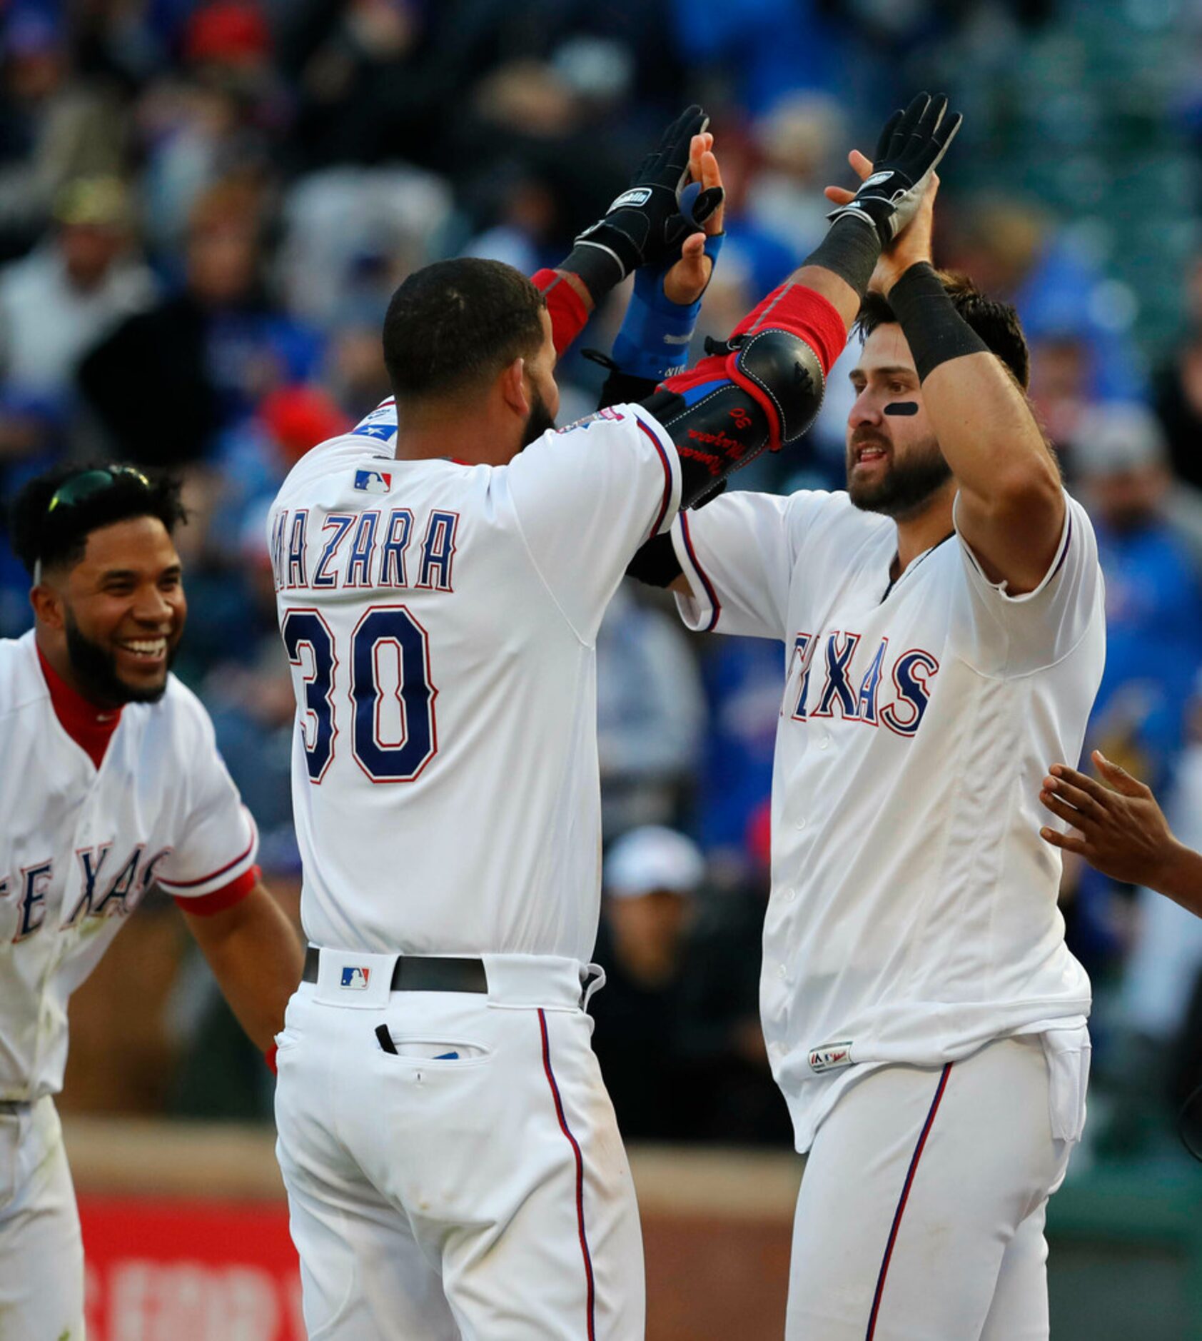
[[[484,956],[486,995],[390,992],[395,956],[343,957],[354,990],[323,951],[277,1038],[310,1341],[642,1341],[638,1208],[582,966]]]

